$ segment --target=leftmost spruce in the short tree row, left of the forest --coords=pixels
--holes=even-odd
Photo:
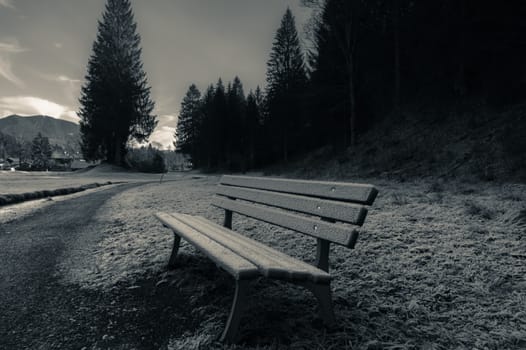
[[[201,92],[195,84],[192,84],[181,103],[181,112],[175,133],[177,151],[190,154],[192,158],[195,158],[201,123]]]

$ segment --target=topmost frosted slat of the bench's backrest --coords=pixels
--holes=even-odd
[[[220,183],[367,205],[371,205],[378,194],[378,190],[372,185],[341,182],[224,175]]]

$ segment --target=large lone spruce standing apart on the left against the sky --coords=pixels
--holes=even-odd
[[[146,141],[155,129],[140,41],[130,0],[107,0],[80,97],[86,159],[122,165],[127,142]]]

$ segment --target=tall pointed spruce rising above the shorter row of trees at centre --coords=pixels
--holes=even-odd
[[[279,149],[284,161],[287,161],[290,146],[298,141],[295,139],[303,127],[302,96],[306,82],[295,20],[287,8],[267,63],[268,122],[273,146]]]

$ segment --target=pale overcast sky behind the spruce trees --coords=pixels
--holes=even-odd
[[[45,114],[78,122],[78,97],[105,0],[0,0],[0,118]],[[264,87],[266,61],[287,6],[299,0],[132,0],[159,126],[172,143],[181,99],[238,75]]]

